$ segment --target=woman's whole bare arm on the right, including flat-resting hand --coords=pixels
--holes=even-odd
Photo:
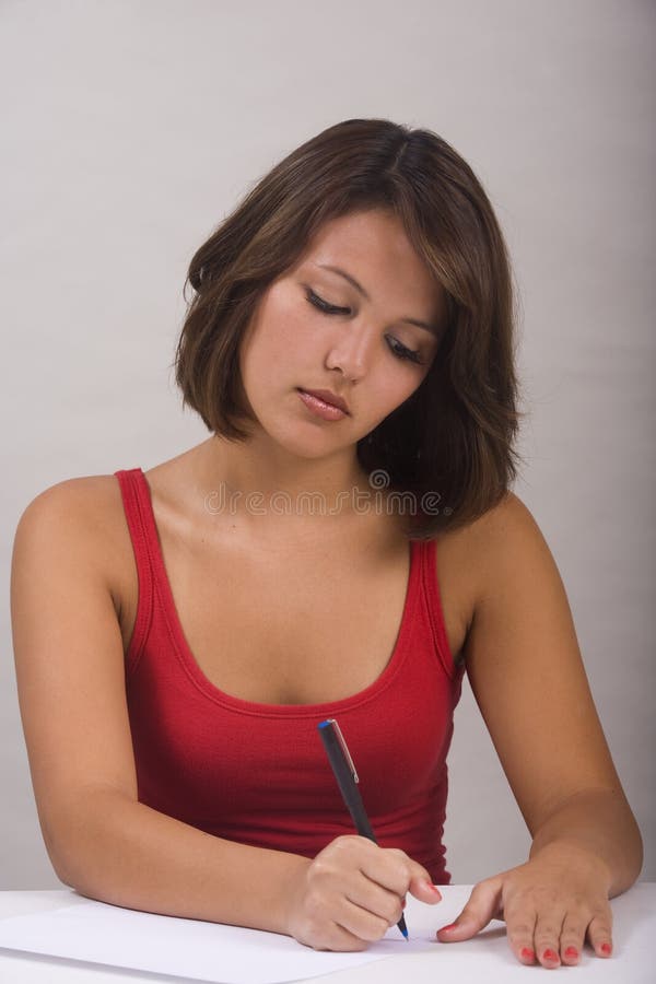
[[[572,952],[586,929],[607,956],[607,900],[637,878],[642,840],[593,702],[565,590],[517,496],[483,517],[472,537],[479,581],[467,672],[532,846],[522,869],[485,883],[459,925],[471,914],[481,928],[493,909],[505,911],[518,956],[535,944],[576,962]],[[563,923],[563,907],[576,916]],[[555,925],[564,926],[561,941]],[[456,930],[454,938],[466,936]]]

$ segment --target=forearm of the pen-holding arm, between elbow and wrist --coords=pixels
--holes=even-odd
[[[285,903],[309,867],[306,858],[214,837],[113,789],[81,789],[80,797],[71,804],[75,819],[58,875],[81,894],[126,909],[289,932]]]

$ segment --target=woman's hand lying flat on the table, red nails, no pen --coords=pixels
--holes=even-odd
[[[594,855],[550,844],[526,864],[479,881],[437,939],[470,939],[490,919],[504,919],[511,948],[524,964],[536,959],[549,969],[576,964],[586,939],[597,957],[610,957],[609,886],[608,869]]]

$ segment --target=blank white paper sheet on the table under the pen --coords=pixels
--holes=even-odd
[[[440,915],[433,912],[433,942],[426,933],[418,936],[412,932],[409,906],[409,942],[394,927],[365,952],[332,953],[317,952],[290,937],[258,929],[153,915],[92,902],[73,893],[70,901],[73,904],[51,912],[2,919],[0,947],[215,984],[279,984],[395,953],[434,950],[435,928],[444,925],[438,921],[444,911]]]

